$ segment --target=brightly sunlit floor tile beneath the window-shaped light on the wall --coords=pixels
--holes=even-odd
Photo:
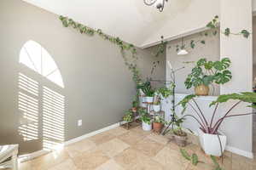
[[[66,150],[52,151],[51,153],[39,156],[31,161],[32,170],[44,170],[69,159]]]

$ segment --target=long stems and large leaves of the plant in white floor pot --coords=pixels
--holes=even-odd
[[[244,113],[244,114],[231,115],[231,111],[233,111],[233,109],[237,105],[240,105],[241,102],[249,103],[250,105],[247,105],[248,107],[256,108],[256,106],[253,105],[253,103],[256,103],[256,94],[253,92],[219,95],[218,99],[216,99],[215,101],[212,101],[212,103],[209,105],[209,107],[215,106],[210,120],[207,120],[205,113],[201,110],[200,106],[196,102],[195,100],[196,97],[197,96],[195,94],[187,95],[177,105],[181,105],[183,107],[183,112],[188,108],[188,106],[190,106],[193,109],[193,111],[195,111],[196,116],[189,114],[189,115],[183,116],[182,118],[186,116],[190,116],[193,119],[195,119],[195,121],[199,123],[200,128],[204,133],[218,134],[218,129],[226,118],[256,114],[256,112],[250,112],[250,113]],[[224,116],[220,116],[220,118],[218,118],[217,120],[214,120],[217,114],[218,105],[228,102],[230,100],[236,100],[236,103],[232,105],[230,109],[224,113]]]

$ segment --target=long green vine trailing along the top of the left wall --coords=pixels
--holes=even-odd
[[[81,34],[86,34],[88,36],[94,36],[97,34],[98,36],[102,37],[104,40],[112,42],[113,44],[117,45],[120,48],[122,57],[125,61],[125,65],[132,73],[132,79],[134,82],[138,83],[142,79],[140,77],[139,70],[137,68],[137,48],[133,44],[125,43],[119,37],[111,37],[105,34],[101,29],[94,30],[88,26],[84,26],[79,22],[75,22],[73,19],[68,17],[60,16],[59,19],[62,22],[62,25],[65,27],[73,27],[73,29],[79,31]],[[131,54],[131,60],[126,57],[125,52],[129,52]]]

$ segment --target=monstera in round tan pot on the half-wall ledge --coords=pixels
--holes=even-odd
[[[224,84],[231,79],[230,59],[224,58],[220,61],[207,61],[199,59],[195,67],[185,80],[187,89],[195,87],[196,95],[208,95],[209,85],[212,83]]]

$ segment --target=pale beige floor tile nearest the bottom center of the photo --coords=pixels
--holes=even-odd
[[[127,150],[121,152],[119,155],[114,156],[114,161],[116,161],[125,169],[129,169],[136,163],[141,163],[145,160],[149,160],[149,157],[132,148],[128,148]]]

